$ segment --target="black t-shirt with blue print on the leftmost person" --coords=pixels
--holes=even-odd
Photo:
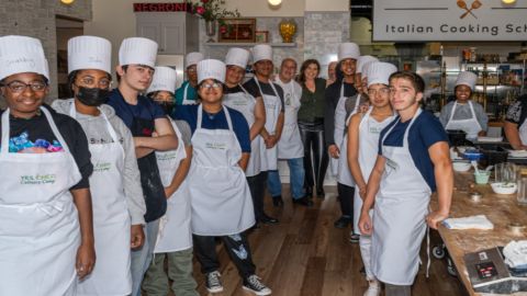
[[[74,118],[55,112],[46,104],[43,106],[52,114],[53,121],[55,121],[58,132],[68,145],[69,151],[74,156],[75,162],[82,175],[79,183],[72,186],[71,190],[89,189],[89,178],[93,172],[93,166],[90,161],[91,155],[85,130],[82,130],[80,124]],[[0,115],[3,114],[3,112],[2,110]],[[0,136],[1,125],[0,122]],[[63,149],[60,143],[53,134],[52,126],[47,122],[46,116],[42,113],[30,119],[10,116],[9,133],[10,152],[21,152],[26,149],[46,149],[48,152],[53,152]]]

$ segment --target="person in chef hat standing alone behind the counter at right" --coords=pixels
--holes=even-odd
[[[476,81],[478,75],[470,71],[460,72],[453,88],[456,101],[446,104],[439,115],[445,129],[461,129],[467,133],[469,140],[484,136],[489,124],[483,106],[470,100]]]

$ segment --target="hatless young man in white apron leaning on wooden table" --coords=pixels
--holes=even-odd
[[[431,114],[424,114],[419,101],[424,92],[423,79],[413,72],[395,72],[390,77],[392,106],[399,117],[381,134],[382,149],[377,158],[366,193],[359,219],[362,235],[372,234],[372,274],[386,286],[386,296],[411,295],[419,264],[419,249],[427,224],[437,229],[438,224],[448,217],[453,189],[453,172],[448,152],[448,138],[440,124]],[[410,152],[408,135],[416,119],[422,125],[414,134],[422,139],[413,139],[414,145],[424,144],[422,133],[439,133],[428,149],[413,153],[426,153],[422,161],[430,161],[435,175],[425,180]],[[434,126],[430,126],[434,125]],[[388,146],[386,139],[397,128],[392,143],[402,146]],[[402,129],[404,128],[404,129]],[[429,132],[429,133],[430,133]],[[403,133],[403,134],[401,134]],[[431,137],[427,135],[427,139]],[[392,144],[391,144],[392,145]],[[438,209],[428,214],[428,206],[435,180],[439,198]],[[377,196],[375,196],[377,195]],[[373,209],[373,223],[370,209]]]

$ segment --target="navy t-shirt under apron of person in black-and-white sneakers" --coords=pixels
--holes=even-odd
[[[173,113],[175,119],[186,121],[190,125],[192,135],[198,124],[198,107],[199,105],[180,105]],[[231,122],[233,123],[234,134],[236,134],[239,146],[242,147],[242,152],[250,153],[249,124],[240,112],[231,107],[227,109],[231,115]],[[203,111],[201,127],[206,129],[228,129],[224,110],[222,109],[222,111],[215,114]]]

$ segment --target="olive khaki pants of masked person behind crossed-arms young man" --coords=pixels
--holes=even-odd
[[[168,260],[168,276],[165,273],[165,258]],[[192,248],[154,254],[143,281],[143,289],[148,296],[167,296],[169,278],[172,281],[172,292],[177,296],[199,296],[195,292],[198,284],[192,277]]]

